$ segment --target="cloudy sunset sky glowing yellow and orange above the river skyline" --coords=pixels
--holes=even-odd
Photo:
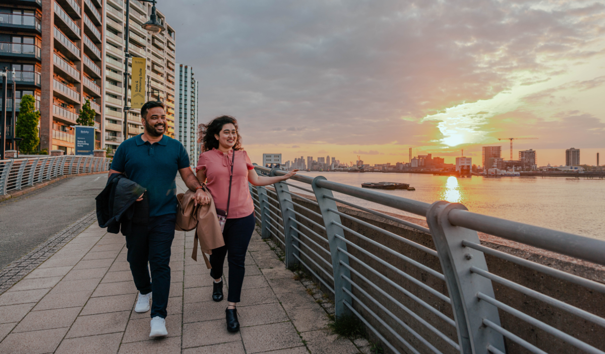
[[[170,4],[169,6],[167,4]],[[200,120],[238,118],[245,149],[409,162],[497,138],[538,166],[605,153],[605,1],[160,0]],[[603,161],[605,157],[601,158]]]

